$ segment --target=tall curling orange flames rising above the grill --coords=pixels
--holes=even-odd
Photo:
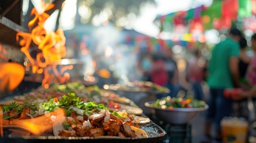
[[[45,4],[44,10],[48,11],[54,7],[54,4]],[[28,26],[31,30],[30,33],[18,32],[16,40],[20,40],[21,52],[23,52],[30,61],[33,73],[44,73],[42,86],[48,88],[50,83],[53,82],[54,77],[57,77],[59,83],[69,81],[69,73],[64,73],[66,70],[72,70],[72,66],[64,66],[61,71],[57,70],[57,61],[66,56],[66,38],[63,30],[57,29],[56,32],[45,29],[44,23],[50,15],[47,13],[38,13],[35,8],[31,11],[31,15],[35,17],[29,21]],[[38,53],[35,58],[30,55],[30,46],[32,42],[38,46]],[[53,69],[50,73],[49,69]]]

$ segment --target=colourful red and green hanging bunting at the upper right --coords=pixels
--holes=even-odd
[[[242,19],[240,29],[256,32],[255,20],[256,0],[225,0],[214,1],[210,7],[200,5],[188,11],[177,11],[166,15],[157,15],[155,24],[160,32],[171,31],[180,26],[186,27],[184,35],[190,33],[197,41],[205,41],[201,34],[209,29],[230,29],[234,21]],[[167,26],[166,26],[167,25]],[[171,26],[170,26],[171,25]],[[168,27],[168,29],[166,28]],[[169,27],[172,27],[170,30]]]

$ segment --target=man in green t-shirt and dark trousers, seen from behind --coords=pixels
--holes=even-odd
[[[234,88],[239,85],[239,41],[241,32],[231,29],[227,38],[215,45],[209,61],[208,85],[210,97],[206,113],[205,136],[202,142],[211,142],[211,124],[215,125],[215,141],[221,142],[220,122],[232,111],[232,99],[224,97],[224,89]]]

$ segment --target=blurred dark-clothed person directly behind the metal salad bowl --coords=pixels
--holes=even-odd
[[[183,87],[178,82],[178,67],[173,58],[171,48],[166,51],[165,69],[168,73],[168,82],[165,86],[171,91],[169,93],[171,97],[177,97],[178,92],[183,89]]]

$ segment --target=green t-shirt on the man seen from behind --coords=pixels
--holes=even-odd
[[[239,44],[231,38],[215,45],[209,62],[208,85],[210,88],[233,88],[229,59],[239,57],[239,54]]]

